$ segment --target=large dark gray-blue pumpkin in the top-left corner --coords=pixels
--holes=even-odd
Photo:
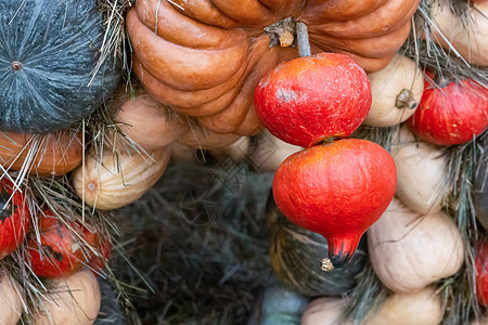
[[[119,80],[97,0],[0,0],[0,131],[47,133],[97,109]]]

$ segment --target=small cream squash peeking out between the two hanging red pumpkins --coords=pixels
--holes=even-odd
[[[268,130],[257,138],[256,147],[251,148],[249,158],[258,171],[275,171],[290,155],[303,147],[281,141]]]

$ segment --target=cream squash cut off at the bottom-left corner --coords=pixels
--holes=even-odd
[[[7,270],[0,270],[0,324],[16,325],[24,310],[25,297],[17,284]]]

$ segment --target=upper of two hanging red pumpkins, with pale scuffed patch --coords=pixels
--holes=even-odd
[[[349,136],[371,108],[364,70],[344,54],[320,53],[279,64],[256,87],[254,106],[268,130],[309,147]]]

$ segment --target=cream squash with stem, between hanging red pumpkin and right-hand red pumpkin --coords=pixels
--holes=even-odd
[[[393,127],[413,115],[424,91],[416,63],[397,53],[382,70],[368,75],[373,102],[364,125]]]

